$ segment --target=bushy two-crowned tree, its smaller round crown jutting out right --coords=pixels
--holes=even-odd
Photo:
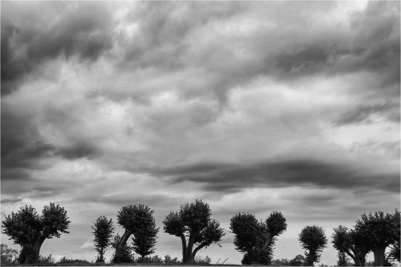
[[[275,237],[286,229],[286,218],[277,211],[270,213],[265,222],[249,213],[237,213],[230,222],[235,249],[244,254],[243,264],[270,264]]]

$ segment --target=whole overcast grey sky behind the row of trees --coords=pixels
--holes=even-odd
[[[240,264],[238,212],[283,213],[275,258],[323,227],[335,264],[334,227],[399,209],[400,2],[1,1],[1,219],[60,204],[41,252],[91,261],[97,217],[143,203],[180,258],[162,221],[195,199],[212,263]]]

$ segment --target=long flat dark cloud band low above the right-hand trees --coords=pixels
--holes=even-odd
[[[352,165],[318,160],[293,160],[249,165],[207,163],[163,169],[157,175],[168,176],[172,183],[206,183],[211,191],[235,192],[251,187],[282,187],[314,184],[321,187],[376,187],[399,191],[399,173],[366,174]]]

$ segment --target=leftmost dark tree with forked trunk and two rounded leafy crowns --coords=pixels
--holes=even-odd
[[[21,246],[20,263],[36,263],[45,239],[69,233],[67,229],[71,221],[68,219],[67,211],[55,203],[45,206],[41,215],[32,206],[25,206],[2,221],[3,233]]]

